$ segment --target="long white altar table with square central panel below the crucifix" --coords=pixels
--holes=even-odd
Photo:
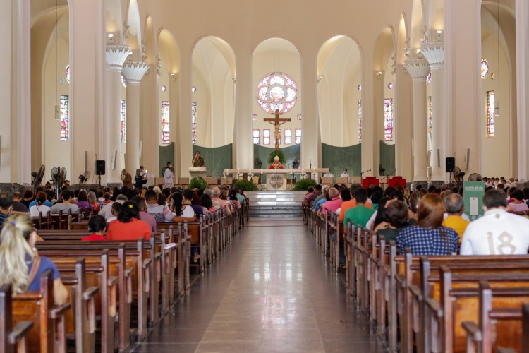
[[[233,175],[236,179],[239,175],[248,174],[249,177],[255,174],[267,174],[267,190],[286,190],[286,179],[288,174],[311,174],[312,179],[317,180],[318,174],[329,172],[329,168],[310,169],[224,169],[224,176]]]

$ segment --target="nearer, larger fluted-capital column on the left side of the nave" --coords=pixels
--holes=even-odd
[[[107,96],[105,99],[105,129],[104,140],[106,143],[104,159],[106,164],[107,183],[118,183],[121,181],[119,175],[123,166],[119,162],[120,151],[120,85],[121,69],[127,59],[130,47],[128,45],[107,45],[105,58],[107,59],[106,86]],[[128,102],[127,102],[128,103]],[[116,159],[116,160],[114,160]]]

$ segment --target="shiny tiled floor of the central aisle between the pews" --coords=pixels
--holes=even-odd
[[[135,352],[387,352],[302,219],[250,219]]]

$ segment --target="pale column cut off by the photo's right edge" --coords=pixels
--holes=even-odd
[[[516,0],[516,92],[518,102],[518,180],[529,179],[529,4]]]

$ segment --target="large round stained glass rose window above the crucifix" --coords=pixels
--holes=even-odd
[[[286,73],[269,73],[257,85],[257,103],[265,112],[284,114],[298,100],[298,85]]]

